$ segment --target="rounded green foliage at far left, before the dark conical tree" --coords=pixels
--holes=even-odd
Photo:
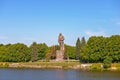
[[[31,58],[29,53],[28,47],[22,43],[2,45],[0,46],[0,61],[26,62]]]

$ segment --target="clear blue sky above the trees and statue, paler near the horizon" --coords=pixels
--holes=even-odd
[[[78,37],[120,34],[120,0],[0,0],[0,43],[75,45]]]

